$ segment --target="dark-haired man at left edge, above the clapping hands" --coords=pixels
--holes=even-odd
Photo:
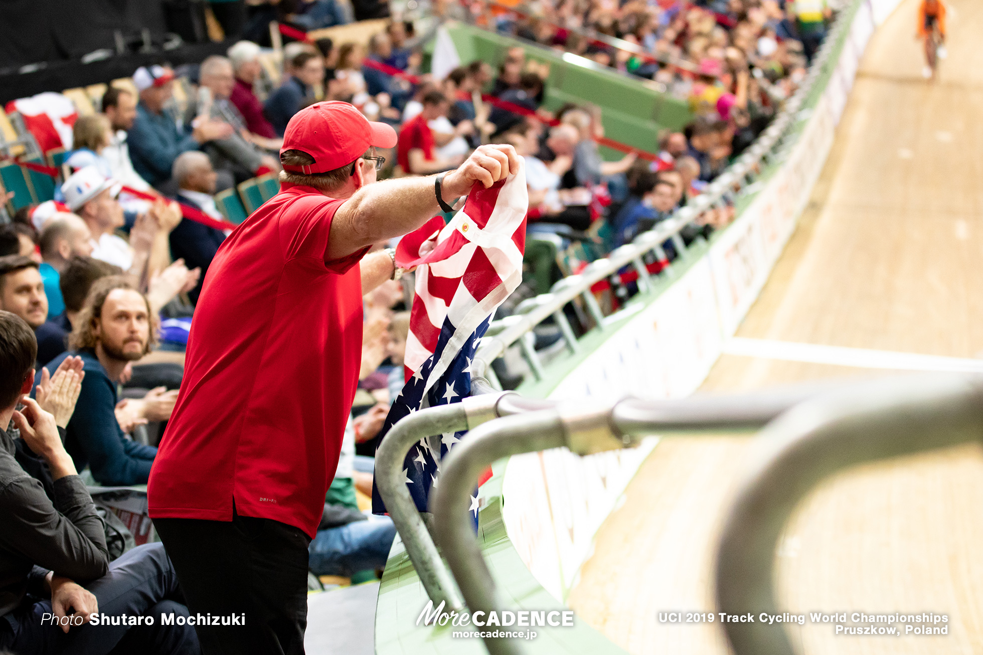
[[[65,349],[64,330],[47,322],[48,299],[37,263],[23,255],[0,257],[0,310],[21,317],[35,332],[38,357]],[[39,330],[39,331],[38,331]],[[45,364],[44,359],[38,364]],[[38,367],[40,368],[40,367]]]

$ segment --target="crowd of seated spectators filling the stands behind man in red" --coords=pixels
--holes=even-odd
[[[281,0],[268,8],[308,29],[351,20],[351,7],[335,0]],[[376,159],[383,176],[448,170],[482,144],[512,145],[525,159],[529,234],[588,244],[600,256],[691,203],[754,141],[801,78],[827,12],[822,0],[549,0],[524,5],[522,13],[472,7],[479,23],[687,97],[693,120],[664,131],[654,156],[627,148],[605,160],[601,109],[548,110],[549,69],[522,47],[510,49],[496,72],[476,61],[442,79],[422,74],[420,44],[400,21],[367,46],[288,43],[272,88],[263,84],[260,45],[243,40],[227,57],[208,57],[180,75],[140,68],[136,96],[107,89],[101,112],[74,126],[65,159],[71,174],[57,202],[22,210],[0,227],[0,366],[8,381],[0,384],[0,512],[5,525],[17,527],[0,536],[8,580],[0,615],[22,630],[12,643],[40,652],[61,637],[25,627],[25,617],[78,611],[118,584],[107,576],[118,565],[108,561],[78,472],[87,468],[102,485],[147,480],[155,440],[136,437],[170,417],[187,326],[227,235],[183,217],[178,202],[221,219],[217,192],[280,171],[283,132],[297,111],[318,100],[345,101],[399,132],[396,148],[365,157]],[[248,32],[248,22],[243,26]],[[731,208],[705,211],[682,236],[709,236],[731,217]],[[674,256],[671,243],[665,252]],[[371,495],[374,440],[403,384],[410,298],[395,281],[365,298],[360,390],[311,544],[316,574],[383,566],[395,534],[387,517],[360,511],[356,491]],[[184,326],[183,335],[177,329],[175,337],[171,324]],[[51,519],[35,523],[58,527],[31,532],[21,518],[28,512]],[[126,596],[135,614],[181,612],[159,547],[136,549],[117,563],[160,571],[139,601],[135,592]],[[192,630],[168,634],[177,640],[170,646],[160,645],[165,637],[154,630],[123,630],[118,639],[155,643],[158,652],[184,652],[194,639]]]

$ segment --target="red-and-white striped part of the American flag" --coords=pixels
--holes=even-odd
[[[460,348],[455,340],[463,344],[522,281],[529,194],[521,157],[519,163],[517,173],[489,189],[476,183],[446,225],[436,216],[400,241],[397,264],[417,267],[403,360],[407,380],[434,354],[440,330],[449,324],[454,336],[441,357],[448,362],[437,362],[431,373],[438,378]]]

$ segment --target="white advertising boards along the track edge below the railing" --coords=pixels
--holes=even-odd
[[[549,394],[614,401],[681,397],[703,382],[768,279],[833,145],[860,56],[897,0],[868,0],[854,17],[837,68],[787,159],[700,262],[611,334]],[[578,457],[565,448],[509,459],[502,483],[509,539],[559,601],[591,556],[594,537],[656,445]]]

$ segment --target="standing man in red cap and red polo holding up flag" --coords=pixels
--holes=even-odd
[[[366,251],[519,167],[487,146],[445,178],[376,184],[374,149],[395,144],[346,102],[300,111],[280,193],[208,268],[147,490],[191,614],[245,616],[196,625],[204,653],[304,650],[307,549],[358,383],[362,295],[395,273],[391,252]]]

